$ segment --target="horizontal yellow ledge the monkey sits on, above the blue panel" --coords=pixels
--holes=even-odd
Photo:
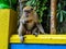
[[[66,35],[25,35],[25,44],[66,44]],[[12,35],[10,42],[21,42],[18,35]]]

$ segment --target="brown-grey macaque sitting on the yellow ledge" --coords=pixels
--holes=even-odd
[[[18,32],[21,41],[24,40],[24,35],[38,35],[40,33],[45,34],[41,23],[38,22],[38,16],[32,7],[25,7],[23,9]]]

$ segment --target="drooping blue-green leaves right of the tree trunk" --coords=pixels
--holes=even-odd
[[[58,8],[57,8],[57,17],[58,21],[62,23],[64,22],[64,19],[66,17],[66,11],[64,10],[64,7],[66,5],[66,0],[59,0]]]

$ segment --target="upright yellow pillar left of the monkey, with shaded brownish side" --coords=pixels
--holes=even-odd
[[[10,34],[15,32],[15,15],[11,9],[0,9],[0,49],[8,49]]]

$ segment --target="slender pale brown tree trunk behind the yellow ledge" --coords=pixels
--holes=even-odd
[[[56,34],[56,2],[57,0],[51,0],[51,34]]]

